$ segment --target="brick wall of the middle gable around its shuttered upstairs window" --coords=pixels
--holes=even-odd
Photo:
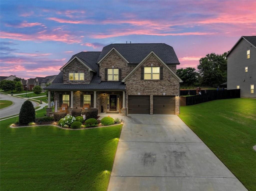
[[[124,61],[116,52],[113,50],[109,56],[107,56],[100,64],[100,77],[101,81],[105,81],[105,68],[121,68],[122,69],[122,79],[129,74],[135,66],[127,66],[126,61]]]

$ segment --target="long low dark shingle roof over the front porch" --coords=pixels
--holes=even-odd
[[[50,84],[45,90],[125,90],[123,82],[101,82],[99,84]]]

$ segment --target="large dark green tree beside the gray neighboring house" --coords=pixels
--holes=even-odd
[[[227,52],[207,54],[199,60],[197,69],[201,75],[200,84],[217,87],[227,81]]]

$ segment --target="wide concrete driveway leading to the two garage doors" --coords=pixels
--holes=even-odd
[[[247,190],[176,115],[125,117],[108,190]]]

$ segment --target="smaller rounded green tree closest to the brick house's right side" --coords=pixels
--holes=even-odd
[[[182,85],[184,86],[193,86],[195,83],[198,82],[198,75],[199,73],[196,71],[195,68],[180,68],[177,69],[177,75],[182,79],[183,83]]]

